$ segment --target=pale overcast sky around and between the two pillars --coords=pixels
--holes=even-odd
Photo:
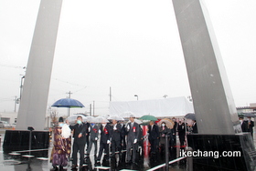
[[[39,0],[0,0],[0,112],[13,112]],[[205,0],[236,106],[256,99],[256,1]],[[113,101],[189,96],[171,0],[63,0],[48,106],[68,96],[95,114]],[[59,110],[59,115],[67,111]]]

